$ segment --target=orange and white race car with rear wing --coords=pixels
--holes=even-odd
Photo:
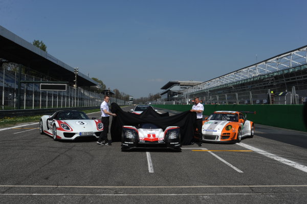
[[[203,142],[236,143],[243,137],[254,136],[254,123],[246,120],[246,114],[256,114],[249,111],[215,111],[203,121]]]

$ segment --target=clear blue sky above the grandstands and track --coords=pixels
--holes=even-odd
[[[135,98],[307,44],[307,1],[0,0],[0,25]]]

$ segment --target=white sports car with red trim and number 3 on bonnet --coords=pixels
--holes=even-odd
[[[103,130],[100,120],[91,120],[82,111],[59,110],[40,118],[39,132],[52,136],[53,140],[98,139]]]

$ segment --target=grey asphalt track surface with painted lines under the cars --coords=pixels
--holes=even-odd
[[[20,125],[0,128],[0,203],[306,203],[305,132],[256,124],[239,144],[121,152]]]

